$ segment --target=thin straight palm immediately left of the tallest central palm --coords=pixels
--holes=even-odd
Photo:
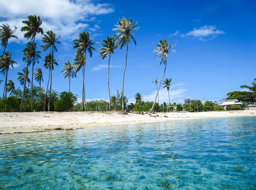
[[[100,52],[100,57],[104,59],[109,55],[108,59],[108,95],[109,95],[109,111],[111,111],[111,96],[110,96],[110,89],[109,89],[109,62],[111,58],[111,53],[114,53],[115,47],[115,39],[113,37],[108,37],[107,40],[103,40],[103,43],[100,43],[103,47],[100,47],[99,49],[102,50]]]

